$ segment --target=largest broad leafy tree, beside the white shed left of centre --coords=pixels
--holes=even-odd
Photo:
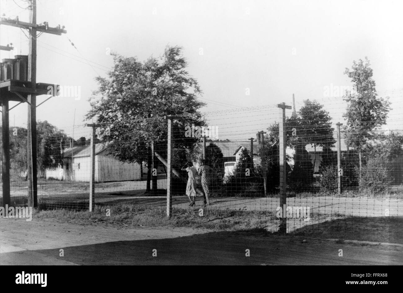
[[[202,91],[197,80],[186,71],[187,61],[182,48],[167,46],[159,58],[150,57],[139,62],[135,57],[114,56],[114,68],[109,78],[97,77],[98,90],[90,98],[91,110],[86,119],[96,117],[102,124],[101,133],[112,154],[127,162],[147,162],[150,167],[154,150],[166,154],[167,123],[164,116],[180,116],[173,121],[175,139],[173,149],[191,150],[197,137],[185,138],[185,126],[194,123],[205,126],[198,111],[204,106],[197,101]],[[151,170],[147,172],[147,191],[150,191]]]

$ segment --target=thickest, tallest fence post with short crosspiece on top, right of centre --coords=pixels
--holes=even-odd
[[[291,109],[291,106],[286,106],[285,103],[278,104],[280,108],[280,122],[278,123],[278,137],[279,137],[279,162],[280,162],[280,207],[283,210],[283,217],[280,217],[280,234],[287,234],[287,217],[284,216],[287,207],[287,157],[286,157],[286,132],[284,131],[285,125],[285,109]]]

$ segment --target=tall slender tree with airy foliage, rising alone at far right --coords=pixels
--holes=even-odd
[[[347,102],[347,112],[343,117],[347,119],[345,126],[346,142],[349,146],[358,150],[359,170],[362,169],[361,152],[368,139],[371,139],[370,131],[378,129],[386,124],[386,118],[390,110],[388,98],[378,98],[375,89],[375,81],[372,79],[370,61],[353,61],[351,71],[346,68],[344,74],[351,78],[356,87],[356,93],[344,100]]]

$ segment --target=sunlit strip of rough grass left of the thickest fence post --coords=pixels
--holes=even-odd
[[[110,215],[107,215],[107,209]],[[52,218],[62,222],[84,225],[107,224],[119,227],[192,227],[222,230],[245,230],[264,227],[268,212],[254,212],[206,207],[203,216],[199,208],[173,208],[172,217],[166,217],[166,209],[149,208],[134,204],[96,206],[94,212],[76,210],[37,210],[35,217]]]

